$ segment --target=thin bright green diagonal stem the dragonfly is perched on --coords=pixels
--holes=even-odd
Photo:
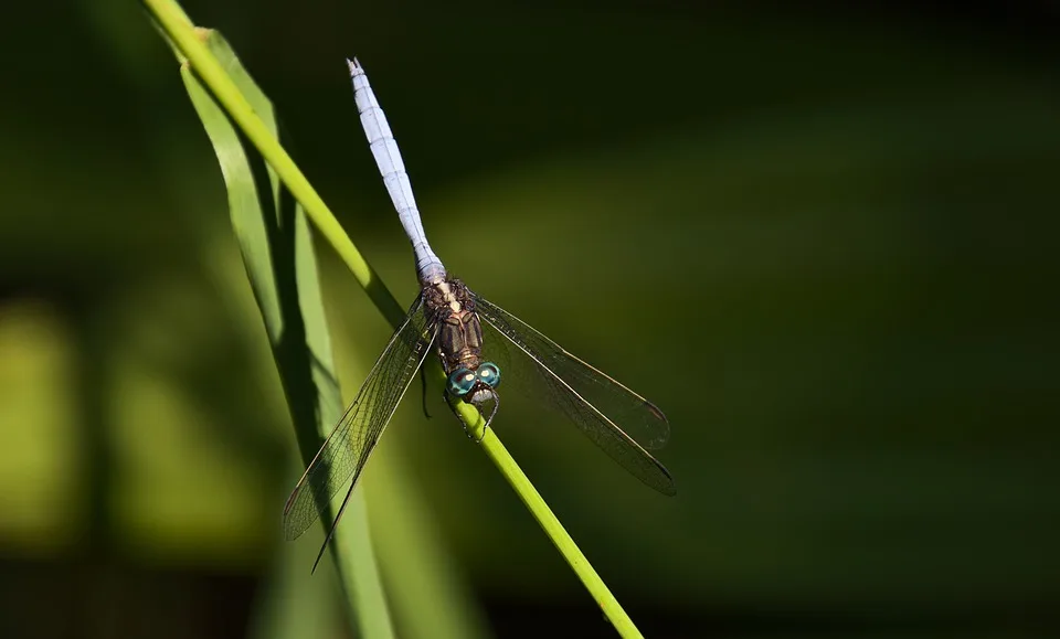
[[[377,308],[394,327],[404,320],[404,310],[394,296],[382,284],[379,275],[361,256],[339,221],[328,210],[327,204],[309,184],[305,174],[298,169],[294,160],[287,155],[279,141],[272,135],[254,108],[240,93],[239,88],[225,73],[224,68],[200,40],[195,26],[188,20],[180,8],[170,0],[144,0],[144,3],[153,13],[162,29],[187,56],[192,68],[205,83],[214,97],[227,110],[233,120],[243,129],[247,139],[257,148],[283,180],[290,193],[301,203],[306,215],[312,221],[320,234],[335,247],[336,252],[349,267],[357,281],[369,294]],[[437,374],[444,374],[441,368],[434,366]],[[464,419],[469,432],[481,438],[483,449],[500,470],[512,489],[519,494],[522,502],[538,520],[545,534],[552,540],[555,547],[581,578],[582,583],[593,595],[597,605],[623,637],[642,637],[633,620],[618,605],[611,590],[604,585],[600,575],[590,565],[589,560],[574,544],[574,540],[566,533],[544,500],[530,483],[515,459],[508,454],[492,429],[483,433],[485,426],[481,415],[473,406],[457,402],[454,408]]]

